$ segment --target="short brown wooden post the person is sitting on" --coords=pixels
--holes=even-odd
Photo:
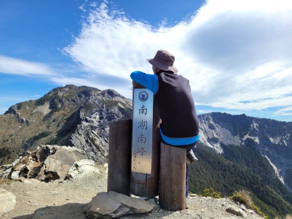
[[[185,209],[186,149],[161,143],[159,205],[168,211]]]

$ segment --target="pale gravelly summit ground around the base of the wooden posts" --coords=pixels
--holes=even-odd
[[[4,213],[2,219],[86,219],[83,208],[98,192],[107,191],[107,169],[98,166],[99,173],[91,173],[72,181],[56,180],[51,183],[28,180],[1,184],[16,195],[15,208]],[[226,211],[238,205],[228,198],[190,197],[190,208],[182,211],[165,211],[159,206],[152,212],[140,215],[125,215],[121,219],[236,219],[242,218]],[[249,219],[260,219],[256,213],[245,212]]]

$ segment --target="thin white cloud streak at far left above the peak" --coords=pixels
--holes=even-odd
[[[18,75],[54,75],[48,65],[0,55],[0,73]]]

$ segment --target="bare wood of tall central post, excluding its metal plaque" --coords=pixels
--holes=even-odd
[[[144,88],[133,81],[133,91],[135,88]],[[130,193],[135,196],[154,198],[158,195],[159,187],[159,155],[160,155],[160,132],[161,119],[158,107],[154,102],[153,106],[153,129],[152,129],[152,161],[151,174],[131,172]]]

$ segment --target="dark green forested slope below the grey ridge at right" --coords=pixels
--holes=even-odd
[[[266,181],[266,178],[252,173],[244,165],[225,159],[201,143],[198,143],[195,154],[199,161],[190,165],[191,192],[203,194],[204,189],[213,187],[216,191],[221,192],[222,196],[231,196],[234,191],[248,190],[252,192],[256,205],[269,217],[291,214],[292,193],[280,182],[271,184]],[[256,156],[253,155],[253,158]],[[269,163],[265,163],[265,160],[258,161],[258,164],[260,164],[258,170],[271,167]],[[268,178],[274,174],[266,171],[264,173]],[[278,181],[277,178],[275,179]]]

